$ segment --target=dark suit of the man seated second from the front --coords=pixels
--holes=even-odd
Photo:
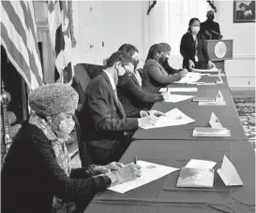
[[[128,81],[128,74],[125,76],[118,84],[125,84]],[[119,143],[125,143],[127,135],[138,128],[138,120],[135,118],[138,118],[139,114],[134,112],[129,115],[133,118],[128,118],[124,108],[118,105],[111,82],[105,72],[101,72],[90,81],[84,93],[79,119],[82,124],[82,137],[89,147],[89,152],[90,149],[101,149],[105,154],[103,157],[92,153],[94,163],[99,162],[100,159],[108,161],[113,149]]]

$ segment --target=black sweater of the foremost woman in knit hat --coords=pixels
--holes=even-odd
[[[88,202],[111,185],[110,178],[94,175],[79,168],[68,177],[56,162],[46,136],[25,122],[2,168],[1,212],[51,213],[53,195],[66,202]]]

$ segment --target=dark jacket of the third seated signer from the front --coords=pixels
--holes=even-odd
[[[117,87],[119,100],[128,114],[150,109],[155,102],[163,101],[163,96],[160,93],[143,92],[137,78],[130,76],[127,83]]]

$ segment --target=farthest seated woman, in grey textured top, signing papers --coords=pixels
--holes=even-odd
[[[170,55],[170,49],[163,43],[153,45],[148,51],[146,62],[143,66],[143,90],[146,92],[158,92],[174,81],[186,76],[187,70],[168,74],[162,67],[162,63]]]

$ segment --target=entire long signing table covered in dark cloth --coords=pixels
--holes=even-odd
[[[218,78],[203,77],[200,81],[214,82]],[[217,162],[217,170],[226,155],[233,163],[244,186],[226,187],[215,172],[213,189],[176,188],[179,171],[159,178],[124,194],[101,192],[85,210],[86,213],[245,213],[255,212],[255,153],[240,123],[227,78],[218,85],[172,84],[170,87],[197,87],[198,92],[173,92],[215,97],[220,90],[226,106],[198,106],[188,99],[179,103],[156,103],[152,109],[167,112],[178,108],[195,122],[158,129],[138,129],[133,142],[120,162],[139,160],[173,167],[183,167],[190,159]],[[231,130],[230,137],[193,137],[195,127],[206,127],[214,112],[221,124]]]

